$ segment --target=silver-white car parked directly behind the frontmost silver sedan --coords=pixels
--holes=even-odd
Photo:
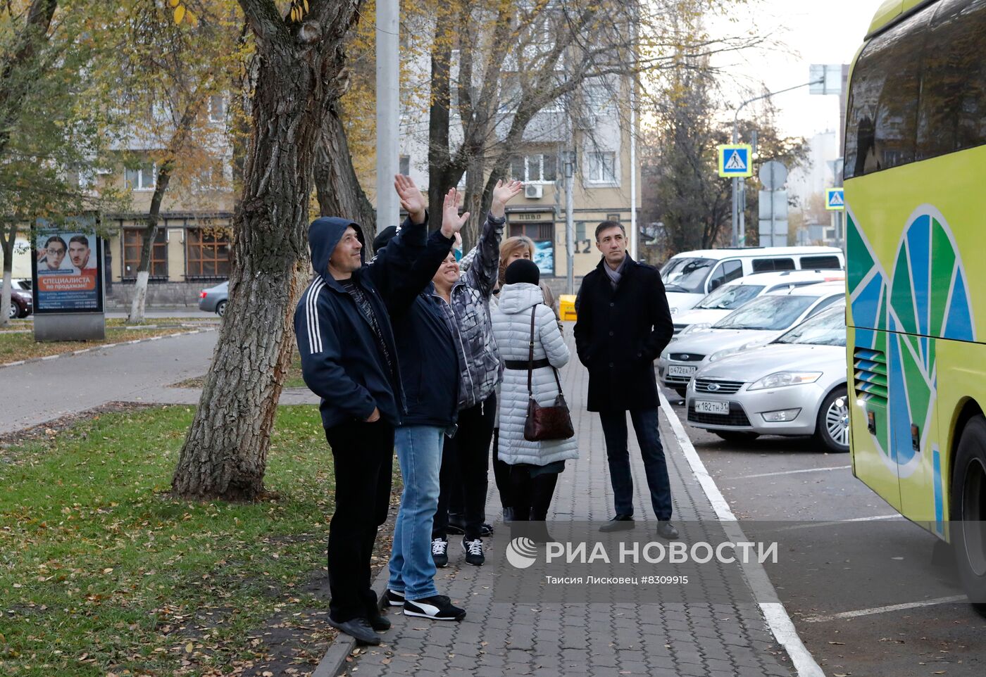
[[[658,360],[661,382],[684,397],[688,381],[700,367],[751,346],[770,343],[813,314],[844,301],[844,282],[823,282],[756,297],[708,329],[684,331]]]

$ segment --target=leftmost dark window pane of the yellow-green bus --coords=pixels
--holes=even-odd
[[[928,12],[919,12],[877,35],[853,68],[846,118],[845,177],[914,162],[920,35]]]

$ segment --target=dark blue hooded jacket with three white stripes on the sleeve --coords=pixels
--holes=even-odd
[[[321,398],[319,410],[325,428],[365,421],[375,407],[387,423],[396,426],[407,408],[399,370],[391,373],[387,368],[370,322],[352,295],[328,272],[328,259],[349,226],[365,246],[362,229],[346,219],[322,217],[309,228],[312,265],[317,274],[295,309],[302,375]],[[427,223],[414,225],[405,220],[400,233],[374,262],[364,263],[352,277],[373,306],[395,368],[398,354],[389,313],[406,311],[416,297],[408,298],[406,282],[422,248],[408,240],[419,240],[427,229]]]

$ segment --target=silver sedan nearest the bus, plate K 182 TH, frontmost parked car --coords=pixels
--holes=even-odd
[[[849,450],[846,307],[834,305],[773,342],[695,372],[685,394],[688,424],[724,440],[812,435]]]

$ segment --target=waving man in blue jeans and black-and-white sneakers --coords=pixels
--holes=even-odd
[[[395,433],[404,490],[393,527],[387,603],[403,606],[405,616],[440,621],[458,621],[465,616],[449,597],[438,593],[431,554],[442,442],[446,433],[455,433],[459,374],[458,326],[435,294],[432,277],[469,218],[468,213],[458,216],[456,202],[456,191],[450,190],[443,205],[442,230],[428,238],[424,253],[412,266],[406,289],[426,289],[406,310],[395,309],[390,315],[407,410]],[[374,239],[374,248],[386,251],[395,233],[392,228],[383,231]]]

